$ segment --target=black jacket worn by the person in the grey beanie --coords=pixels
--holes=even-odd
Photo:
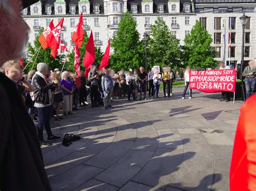
[[[33,77],[33,86],[36,88],[34,92],[35,102],[44,105],[49,104],[50,101],[48,90],[51,89],[52,91],[54,91],[56,88],[56,84],[47,84],[43,77],[36,74],[35,77]]]

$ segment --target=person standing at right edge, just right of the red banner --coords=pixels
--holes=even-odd
[[[251,60],[249,66],[246,66],[242,76],[245,77],[246,99],[253,94],[255,88],[255,62]]]

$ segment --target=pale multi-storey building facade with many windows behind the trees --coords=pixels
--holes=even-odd
[[[225,60],[229,65],[228,32],[231,32],[231,62],[240,63],[242,28],[239,17],[242,12],[250,17],[246,25],[245,60],[256,57],[256,3],[255,0],[223,0],[213,3],[212,0],[41,0],[24,9],[22,15],[30,26],[30,43],[33,43],[39,30],[53,23],[57,25],[62,17],[64,24],[61,39],[67,47],[72,45],[71,36],[83,12],[83,28],[93,32],[95,45],[105,51],[109,38],[116,36],[118,24],[126,11],[133,13],[137,20],[140,38],[143,33],[150,33],[151,25],[160,17],[169,26],[180,43],[183,44],[186,34],[190,33],[196,20],[212,35],[217,60]],[[226,3],[225,3],[226,2]],[[226,41],[226,46],[225,41]]]

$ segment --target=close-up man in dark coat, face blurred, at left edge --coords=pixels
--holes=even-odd
[[[0,1],[0,67],[8,60],[21,58],[29,30],[21,10],[35,2]],[[0,105],[0,190],[51,190],[35,125],[16,84],[3,73]]]

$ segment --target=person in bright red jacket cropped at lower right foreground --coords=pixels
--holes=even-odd
[[[256,190],[256,95],[242,105],[234,139],[230,190]]]

